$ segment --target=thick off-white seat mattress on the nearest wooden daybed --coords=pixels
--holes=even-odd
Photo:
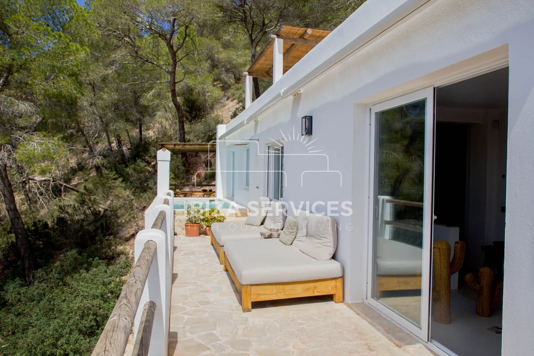
[[[239,282],[244,285],[343,276],[343,266],[336,260],[318,261],[278,239],[229,241],[224,252]]]

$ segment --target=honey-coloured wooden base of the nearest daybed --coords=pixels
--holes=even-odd
[[[252,311],[252,302],[260,302],[261,300],[333,294],[335,303],[343,303],[343,277],[312,281],[249,284],[248,286],[243,286],[235,275],[228,259],[224,260],[224,266],[224,270],[230,273],[235,287],[237,287],[241,295],[241,309],[244,313]]]

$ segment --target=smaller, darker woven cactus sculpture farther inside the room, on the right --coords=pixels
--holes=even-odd
[[[490,267],[478,268],[478,281],[473,273],[466,274],[464,280],[469,288],[477,292],[476,313],[481,317],[491,317],[491,307],[502,298],[502,282],[493,289],[493,270]]]

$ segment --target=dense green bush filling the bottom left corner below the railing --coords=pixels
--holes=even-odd
[[[36,271],[0,292],[2,354],[90,355],[119,297],[131,259],[105,260],[70,251],[58,265]]]

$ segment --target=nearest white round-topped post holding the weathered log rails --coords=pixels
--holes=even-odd
[[[154,241],[157,249],[156,255],[152,260],[150,272],[148,272],[148,278],[139,302],[139,307],[137,308],[133,323],[133,335],[136,337],[140,336],[138,329],[141,316],[143,315],[143,307],[148,300],[152,300],[156,303],[156,310],[148,354],[149,356],[167,356],[169,347],[169,313],[168,306],[166,305],[166,295],[168,295],[166,283],[167,241],[165,233],[159,229],[139,231],[134,245],[136,262],[147,241]]]

